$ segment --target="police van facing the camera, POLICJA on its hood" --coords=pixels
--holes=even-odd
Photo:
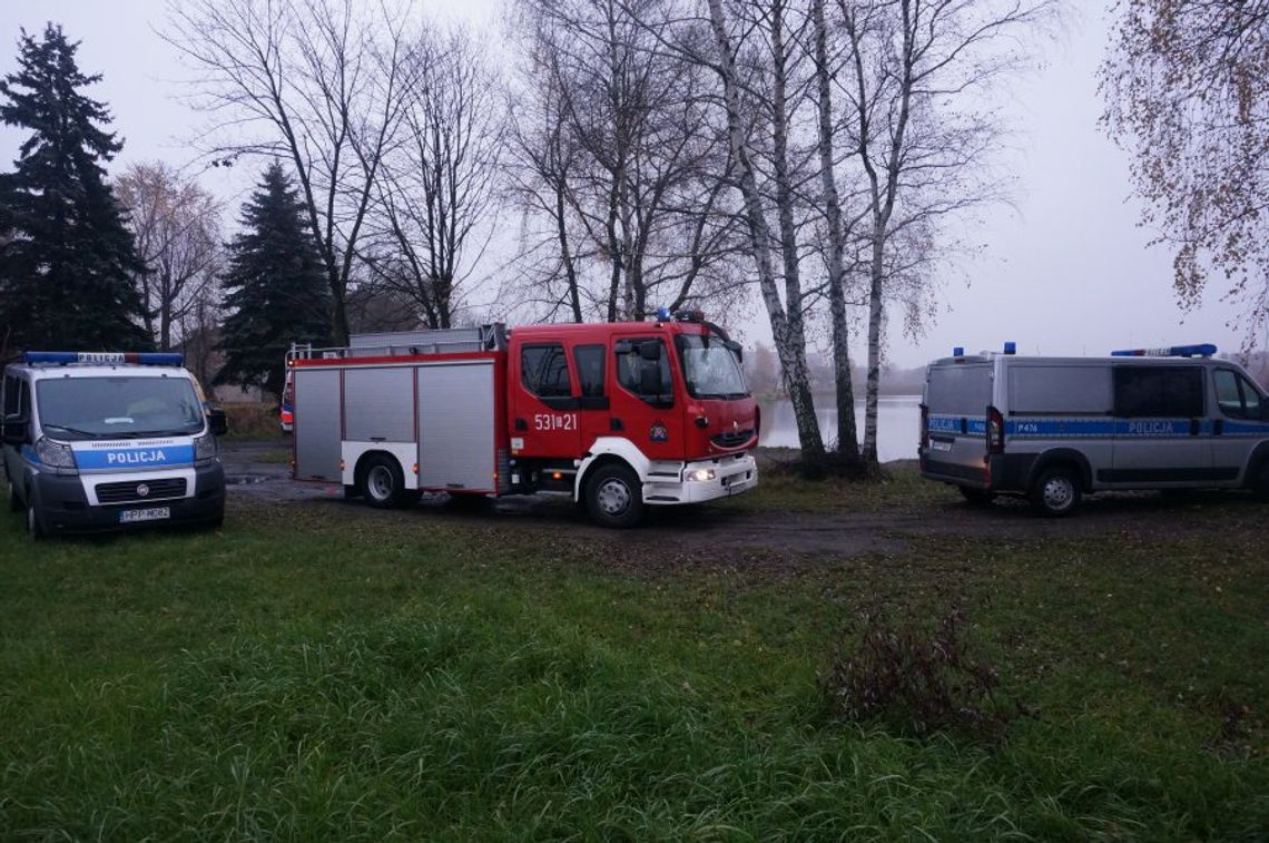
[[[3,408],[9,510],[32,538],[223,521],[225,413],[180,354],[27,352]]]

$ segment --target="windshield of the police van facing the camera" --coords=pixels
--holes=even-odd
[[[36,385],[39,427],[58,439],[189,435],[203,408],[183,377],[58,377]]]

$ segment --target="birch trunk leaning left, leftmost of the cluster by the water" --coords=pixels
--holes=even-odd
[[[811,383],[807,377],[806,347],[797,343],[797,334],[791,329],[789,319],[780,303],[775,287],[775,272],[772,267],[772,232],[763,212],[761,197],[758,192],[758,179],[754,175],[754,163],[745,141],[745,126],[740,114],[740,93],[736,83],[735,65],[731,58],[731,44],[723,22],[722,0],[709,0],[709,22],[713,29],[714,44],[718,48],[718,72],[723,84],[723,103],[727,112],[727,136],[740,174],[740,190],[745,202],[745,218],[749,223],[750,244],[754,260],[758,264],[758,286],[772,322],[772,339],[784,369],[784,386],[793,404],[797,419],[798,443],[802,458],[813,463],[824,457],[824,441],[820,438],[820,423],[815,418],[815,401],[811,396]]]

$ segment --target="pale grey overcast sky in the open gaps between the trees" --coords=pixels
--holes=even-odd
[[[499,0],[429,0],[430,9],[494,27]],[[1147,249],[1150,232],[1137,227],[1140,207],[1129,199],[1128,157],[1101,135],[1101,102],[1095,72],[1107,44],[1107,20],[1098,0],[1077,0],[1081,15],[1060,43],[1037,58],[1043,67],[1014,86],[1009,113],[1015,151],[1003,160],[1018,176],[1014,208],[989,213],[968,232],[981,255],[945,279],[937,320],[924,338],[910,340],[896,329],[888,357],[896,366],[917,366],[950,352],[999,349],[1015,340],[1020,353],[1104,354],[1112,348],[1214,342],[1235,350],[1240,338],[1226,324],[1230,305],[1208,295],[1202,310],[1181,314],[1171,292],[1166,250]],[[164,159],[192,160],[189,141],[201,118],[179,98],[183,70],[174,51],[155,34],[165,17],[164,0],[43,0],[0,3],[0,72],[16,66],[19,28],[38,32],[62,24],[79,52],[84,72],[104,74],[90,95],[105,100],[114,129],[126,138],[112,166]],[[0,168],[9,169],[24,135],[0,127]],[[241,170],[241,168],[236,168]],[[212,192],[235,202],[241,171],[199,174]],[[968,281],[968,283],[966,283]],[[754,297],[750,339],[770,331]],[[495,316],[501,317],[500,314]],[[863,347],[855,344],[857,359]]]

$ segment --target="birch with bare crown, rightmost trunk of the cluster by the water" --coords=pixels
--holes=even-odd
[[[886,303],[930,293],[939,221],[1003,198],[989,168],[1003,127],[992,85],[1020,70],[1056,0],[838,0],[849,56],[841,85],[867,196],[868,383],[863,457],[877,461]],[[904,254],[907,249],[924,249]],[[915,305],[912,305],[915,306]]]

